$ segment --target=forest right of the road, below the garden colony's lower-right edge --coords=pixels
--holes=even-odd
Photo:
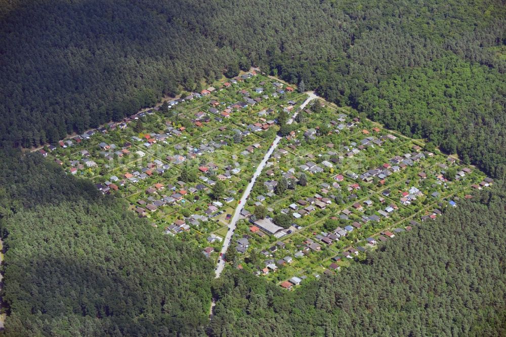
[[[212,336],[506,333],[506,193],[481,191],[296,291],[239,270],[213,286]]]

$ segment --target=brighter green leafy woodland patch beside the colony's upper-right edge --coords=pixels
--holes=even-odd
[[[380,82],[361,110],[388,128],[428,138],[443,151],[468,156],[488,174],[506,175],[504,74],[444,57]]]

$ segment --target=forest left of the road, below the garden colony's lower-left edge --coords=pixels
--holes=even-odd
[[[39,155],[2,152],[6,335],[201,335],[212,265]]]

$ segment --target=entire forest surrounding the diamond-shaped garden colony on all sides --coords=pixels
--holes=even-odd
[[[0,145],[258,66],[504,178],[505,22],[500,0],[0,0]],[[198,250],[39,156],[2,151],[0,178],[7,335],[204,333]],[[208,333],[504,333],[501,188],[295,292],[228,271]]]

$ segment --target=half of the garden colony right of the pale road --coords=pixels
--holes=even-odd
[[[247,200],[248,222],[236,230],[248,240],[237,242],[241,267],[256,275],[287,287],[335,273],[493,183],[421,142],[317,104],[321,113],[305,111],[282,140]],[[284,229],[270,233],[258,217]]]

